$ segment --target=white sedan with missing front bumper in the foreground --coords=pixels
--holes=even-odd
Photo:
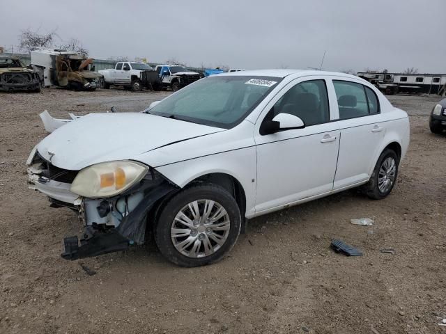
[[[152,234],[167,260],[220,260],[245,221],[362,186],[385,198],[409,120],[343,73],[243,71],[201,79],[141,113],[77,118],[28,159],[32,189],[79,212],[67,259],[124,250]]]

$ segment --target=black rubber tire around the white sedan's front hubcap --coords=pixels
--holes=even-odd
[[[213,200],[221,205],[229,216],[229,232],[226,237],[224,244],[220,246],[214,253],[210,255],[205,255],[203,257],[189,257],[180,253],[174,246],[171,239],[171,228],[174,223],[176,215],[184,209],[189,203],[195,200]],[[200,214],[202,208],[199,209]],[[193,218],[192,218],[193,219]],[[242,218],[240,215],[240,209],[237,205],[236,200],[231,196],[228,191],[226,191],[221,186],[216,184],[195,184],[190,186],[183,191],[177,193],[173,198],[167,202],[167,204],[162,208],[160,216],[157,219],[155,225],[155,242],[157,247],[160,249],[161,254],[170,262],[177,264],[181,267],[199,267],[205,266],[217,262],[228,253],[233,246],[236,244],[238,235],[240,234]],[[176,223],[177,224],[177,223]],[[198,229],[198,228],[197,228]],[[197,232],[196,232],[197,233]],[[224,232],[223,232],[224,233]],[[198,232],[197,237],[203,234],[203,236],[209,235],[207,232]],[[211,232],[210,234],[213,234]],[[184,239],[191,237],[193,234],[188,234]],[[206,239],[210,240],[209,237]],[[195,242],[195,241],[194,241]],[[203,241],[204,243],[204,241]],[[204,251],[204,244],[199,243],[200,246],[197,251]],[[192,244],[190,244],[192,248]],[[213,246],[217,246],[214,244]],[[188,251],[190,253],[191,250]],[[203,251],[201,253],[203,253]]]

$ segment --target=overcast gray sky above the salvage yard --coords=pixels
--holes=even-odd
[[[93,58],[191,66],[446,72],[446,0],[0,0],[0,46],[56,29]]]

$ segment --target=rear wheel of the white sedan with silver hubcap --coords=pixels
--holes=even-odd
[[[374,173],[369,183],[365,185],[365,191],[369,198],[381,200],[392,191],[398,176],[399,158],[394,150],[385,149],[378,158]]]

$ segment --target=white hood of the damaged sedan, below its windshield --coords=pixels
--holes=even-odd
[[[90,113],[56,129],[37,150],[54,166],[80,170],[221,131],[146,113]]]

